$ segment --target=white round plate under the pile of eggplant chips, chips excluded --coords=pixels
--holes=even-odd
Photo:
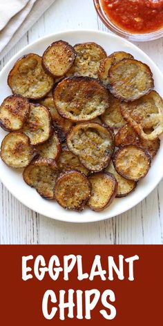
[[[155,80],[155,89],[163,97],[163,76],[160,70],[154,64],[154,62],[144,53],[142,50],[131,44],[130,42],[117,37],[116,35],[111,35],[107,32],[96,32],[90,30],[82,31],[70,31],[70,32],[60,32],[57,34],[49,35],[35,41],[34,43],[26,46],[23,50],[19,51],[17,55],[12,57],[8,64],[3,68],[0,74],[0,102],[3,101],[5,97],[11,94],[10,88],[7,85],[7,77],[10,69],[12,68],[15,61],[19,59],[22,55],[26,55],[29,52],[35,52],[42,55],[44,50],[53,41],[63,39],[68,41],[70,44],[74,45],[84,41],[94,41],[100,44],[106,52],[111,54],[111,52],[122,50],[130,52],[135,59],[141,60],[151,67],[153,72],[153,77]],[[0,131],[0,141],[3,139],[6,132],[1,129]],[[56,220],[62,220],[66,222],[95,222],[99,220],[104,220],[106,218],[111,218],[120,213],[124,213],[128,209],[131,209],[136,204],[141,202],[146,196],[153,191],[155,186],[160,182],[163,176],[162,169],[163,162],[163,146],[161,144],[160,151],[157,153],[153,164],[151,166],[148,175],[144,180],[139,182],[137,189],[126,198],[118,198],[113,201],[108,209],[102,212],[90,211],[86,209],[81,213],[75,211],[66,211],[62,209],[56,202],[44,200],[41,198],[35,189],[31,189],[27,186],[21,177],[21,174],[13,169],[10,169],[0,160],[0,178],[6,188],[14,195],[20,202],[25,204],[30,209],[37,211],[47,217],[54,218]]]

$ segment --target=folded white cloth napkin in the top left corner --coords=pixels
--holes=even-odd
[[[0,60],[55,0],[0,0]]]

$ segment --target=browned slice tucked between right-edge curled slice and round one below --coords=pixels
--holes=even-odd
[[[151,133],[151,131],[149,131]],[[119,129],[115,135],[115,146],[121,147],[125,145],[136,145],[148,151],[151,157],[155,157],[160,148],[160,139],[157,138],[153,141],[142,140],[129,124]]]

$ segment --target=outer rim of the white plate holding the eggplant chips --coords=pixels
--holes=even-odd
[[[21,48],[21,50],[19,50],[17,53],[15,53],[15,55],[13,55],[13,57],[10,58],[10,60],[6,63],[6,65],[1,69],[1,72],[0,72],[0,79],[1,79],[1,75],[3,74],[3,71],[6,70],[6,68],[8,68],[8,66],[10,66],[10,64],[15,61],[15,59],[17,59],[17,57],[19,55],[23,55],[23,52],[25,52],[26,50],[28,50],[28,48],[30,48],[31,46],[33,45],[37,45],[37,44],[41,44],[42,42],[44,42],[44,40],[48,39],[48,38],[51,38],[51,37],[54,37],[54,38],[57,38],[58,35],[61,35],[61,34],[64,34],[64,35],[69,35],[70,33],[74,33],[74,34],[77,34],[77,33],[93,33],[93,34],[98,34],[98,35],[106,35],[106,37],[111,37],[113,39],[118,39],[120,41],[122,41],[124,44],[127,44],[128,46],[131,46],[131,48],[134,48],[135,50],[137,50],[138,52],[140,52],[140,54],[142,54],[144,57],[146,57],[146,59],[148,59],[148,61],[151,62],[151,64],[153,66],[155,66],[155,70],[157,70],[158,73],[160,73],[160,75],[162,75],[162,79],[163,79],[163,74],[162,72],[160,71],[160,69],[157,67],[157,65],[155,64],[155,62],[146,54],[146,52],[144,52],[143,50],[141,50],[140,48],[138,48],[135,44],[131,43],[131,41],[128,41],[126,39],[123,39],[122,37],[119,37],[118,35],[114,35],[114,34],[111,34],[111,32],[106,32],[106,31],[102,31],[102,30],[93,30],[93,29],[84,29],[84,30],[61,30],[59,32],[53,32],[53,33],[50,33],[44,37],[40,37],[39,39],[37,39],[36,41],[32,41],[30,44],[24,46],[23,48]],[[142,200],[144,200],[144,198],[148,197],[148,195],[156,188],[156,186],[160,183],[160,181],[162,180],[163,178],[163,173],[162,175],[160,174],[160,178],[159,180],[154,184],[154,186],[151,186],[151,188],[149,187],[149,190],[146,191],[146,194],[145,195],[142,195],[142,198],[140,200],[140,198],[137,198],[137,200],[134,201],[134,203],[131,203],[128,205],[127,209],[122,209],[122,211],[119,211],[118,214],[114,214],[113,215],[111,214],[111,216],[105,216],[105,215],[102,215],[100,214],[99,212],[99,215],[96,214],[96,212],[92,212],[92,216],[91,217],[86,217],[86,220],[74,220],[74,217],[73,218],[70,218],[70,215],[69,215],[69,218],[61,218],[58,216],[57,217],[54,217],[54,216],[51,216],[49,215],[48,213],[45,213],[44,212],[44,216],[46,216],[46,218],[52,218],[53,220],[59,220],[61,222],[68,222],[68,223],[90,223],[90,222],[100,222],[102,220],[107,220],[108,218],[113,218],[115,216],[118,216],[122,213],[126,213],[126,211],[130,210],[130,209],[133,209],[133,207],[137,206],[137,204],[139,204],[140,202],[142,202]],[[6,189],[8,189],[8,185],[6,185],[6,182],[4,181],[3,182],[3,176],[1,175],[0,173],[0,180],[1,182],[4,184],[4,186],[6,186]],[[37,210],[33,209],[32,208],[32,205],[30,203],[26,203],[26,200],[23,200],[23,198],[19,198],[19,196],[15,193],[14,191],[12,190],[9,190],[8,191],[17,199],[19,200],[19,202],[21,202],[23,205],[25,205],[26,207],[28,207],[28,209],[31,209],[32,211],[35,211],[37,213],[39,213],[40,215],[43,215],[43,213],[39,210],[39,207]],[[55,209],[54,209],[55,211]],[[98,216],[98,218],[97,218]]]

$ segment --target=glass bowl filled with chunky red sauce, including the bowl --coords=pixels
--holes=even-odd
[[[103,23],[130,41],[163,37],[163,0],[93,0]]]

